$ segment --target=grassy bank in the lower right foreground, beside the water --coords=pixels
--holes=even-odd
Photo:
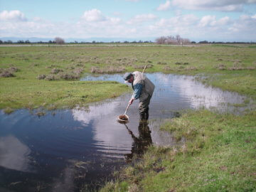
[[[186,143],[151,146],[102,191],[255,191],[255,117],[198,110],[167,119],[161,129]]]

